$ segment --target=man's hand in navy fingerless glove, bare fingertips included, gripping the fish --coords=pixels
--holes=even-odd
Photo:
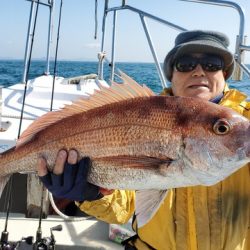
[[[88,157],[77,162],[76,150],[60,150],[58,152],[53,172],[48,171],[47,161],[39,159],[38,176],[44,186],[58,198],[74,201],[93,201],[106,195],[98,186],[87,182],[91,161]],[[104,189],[104,191],[106,191]]]

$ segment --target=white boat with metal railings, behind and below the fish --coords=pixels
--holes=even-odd
[[[177,0],[178,1],[178,0]],[[234,80],[241,80],[243,72],[250,77],[250,70],[245,64],[245,52],[250,51],[250,46],[246,44],[245,33],[245,13],[243,7],[236,1],[224,0],[179,0],[189,4],[211,5],[214,8],[231,8],[239,16],[238,35],[236,37],[235,58],[237,61],[237,70],[233,76]],[[57,49],[53,57],[54,68],[51,71],[51,37],[53,26],[53,15],[58,17],[57,37],[60,34],[60,21],[62,1],[58,13],[56,13],[56,0],[38,1],[29,0],[30,16],[28,23],[28,34],[25,46],[23,79],[20,83],[8,87],[0,88],[0,153],[15,146],[16,140],[34,120],[41,115],[62,108],[65,104],[91,95],[94,90],[100,86],[109,87],[116,77],[116,33],[117,33],[117,15],[120,12],[131,12],[139,15],[142,29],[148,42],[152,58],[154,60],[161,88],[167,87],[167,81],[163,74],[160,60],[157,56],[153,40],[147,25],[147,20],[166,25],[177,32],[185,31],[186,28],[165,20],[154,14],[146,12],[142,8],[128,5],[125,0],[117,5],[110,4],[109,0],[102,2],[102,36],[100,52],[98,53],[98,70],[95,74],[76,75],[72,77],[62,77],[57,75]],[[93,1],[94,2],[94,1]],[[97,1],[95,2],[97,4]],[[34,39],[34,28],[36,27],[36,14],[40,6],[49,9],[49,26],[46,52],[46,66],[43,75],[29,79],[29,69],[32,63],[32,49]],[[96,10],[98,6],[96,5]],[[105,48],[107,18],[112,17],[112,35],[110,60]],[[58,41],[57,41],[58,42]],[[57,46],[59,43],[57,43]],[[110,74],[108,80],[104,77],[104,67],[109,67]],[[10,187],[12,195],[12,204],[9,211],[4,210],[8,203],[9,190],[6,188],[0,200],[0,230],[3,230],[4,240],[17,244],[16,249],[38,249],[40,244],[54,244],[57,249],[123,249],[120,242],[123,237],[132,235],[133,232],[128,229],[128,225],[108,225],[98,221],[95,218],[89,218],[87,215],[79,213],[77,217],[71,218],[58,211],[53,204],[53,197],[47,191],[44,191],[38,178],[34,174],[16,174],[12,178],[15,185]],[[36,195],[34,195],[34,193]],[[49,204],[52,202],[57,214],[49,212]],[[9,204],[9,203],[8,203]],[[7,206],[8,206],[7,204]],[[8,223],[7,223],[8,222]],[[7,227],[8,224],[8,227]],[[61,226],[63,230],[61,230]],[[8,232],[8,233],[7,233]],[[112,235],[115,234],[115,235]],[[46,237],[44,237],[44,235]],[[117,238],[116,238],[117,237]],[[3,239],[3,238],[2,238]],[[114,241],[112,241],[113,239]],[[54,242],[54,241],[55,242]],[[51,243],[52,242],[52,243]],[[1,244],[3,242],[0,242]],[[0,249],[1,248],[0,245]],[[32,248],[33,249],[33,248]],[[52,248],[51,248],[52,249]],[[53,248],[54,249],[54,248]]]

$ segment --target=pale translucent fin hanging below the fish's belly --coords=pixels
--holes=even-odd
[[[135,196],[135,215],[138,227],[147,224],[160,208],[168,190],[138,190]]]

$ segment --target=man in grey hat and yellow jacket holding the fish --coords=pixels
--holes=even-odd
[[[228,38],[218,32],[188,31],[179,34],[175,47],[164,61],[164,72],[172,87],[163,94],[189,96],[230,107],[250,118],[247,96],[229,90],[227,80],[234,69]],[[53,186],[72,164],[86,169],[88,160],[77,164],[77,152],[58,154],[54,174],[41,159],[38,172],[55,195],[71,198],[84,212],[109,223],[125,223],[134,212],[133,191],[100,190],[86,183],[72,182],[71,189]],[[66,166],[65,165],[66,163]],[[216,185],[171,189],[154,217],[143,227],[133,227],[137,235],[126,249],[250,249],[250,164]],[[87,197],[87,198],[86,198]],[[77,198],[77,199],[76,199]]]

